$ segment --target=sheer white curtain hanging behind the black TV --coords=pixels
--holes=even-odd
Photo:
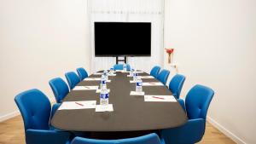
[[[155,0],[90,0],[91,71],[108,69],[115,64],[114,57],[95,57],[94,22],[151,22],[151,56],[129,57],[132,67],[149,72],[152,66],[163,66],[163,11],[164,1]],[[120,48],[122,49],[122,48]],[[127,50],[127,49],[124,49]]]

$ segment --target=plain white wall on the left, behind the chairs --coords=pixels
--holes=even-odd
[[[84,0],[0,1],[0,120],[15,114],[15,95],[84,66],[90,45]]]

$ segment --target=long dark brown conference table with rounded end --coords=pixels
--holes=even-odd
[[[101,71],[102,72],[102,71]],[[163,130],[181,126],[187,122],[183,108],[176,102],[148,102],[142,95],[130,95],[136,84],[130,83],[128,72],[115,72],[108,76],[109,104],[113,112],[96,112],[95,109],[57,110],[50,124],[59,130],[120,132],[139,130]],[[139,73],[139,76],[149,76]],[[100,78],[90,75],[89,78]],[[143,79],[144,82],[159,82],[156,78]],[[78,86],[95,86],[100,81],[81,81]],[[145,95],[172,95],[166,86],[143,86]],[[96,90],[71,90],[63,101],[96,101],[100,103]]]

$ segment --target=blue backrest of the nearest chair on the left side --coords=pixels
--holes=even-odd
[[[27,129],[49,130],[50,103],[43,92],[30,89],[15,96],[20,109],[25,131]]]

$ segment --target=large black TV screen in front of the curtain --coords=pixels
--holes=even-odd
[[[150,22],[95,22],[95,56],[150,56]]]

